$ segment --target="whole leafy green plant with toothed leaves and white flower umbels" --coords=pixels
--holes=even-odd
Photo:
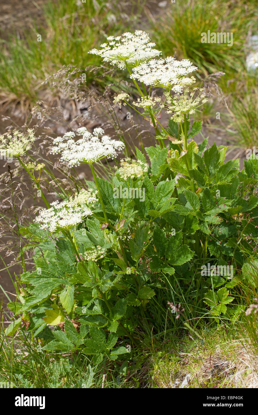
[[[121,93],[114,103],[123,100],[148,119],[157,144],[136,148],[135,159],[117,162],[103,179],[94,164],[116,158],[125,143],[100,128],[54,139],[52,153],[68,166],[89,164],[94,181],[68,200],[46,202],[27,228],[39,248],[35,269],[21,276],[19,307],[9,304],[34,336],[47,339],[43,350],[80,351],[96,364],[129,354],[127,342],[139,346],[145,335],[191,321],[202,307],[217,323],[237,312],[231,294],[252,268],[246,250],[257,251],[258,237],[258,160],[239,171],[238,160],[225,161],[226,147],[193,139],[202,123],[190,115],[206,100],[202,88],[191,89],[196,67],[154,60],[160,52],[141,31],[108,40],[91,53],[128,70],[140,95],[130,104]],[[161,96],[154,96],[156,86]]]

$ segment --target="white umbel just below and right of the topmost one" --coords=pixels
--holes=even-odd
[[[133,73],[130,77],[145,85],[173,89],[174,85],[179,85],[180,80],[184,76],[197,69],[188,59],[177,61],[172,56],[169,56],[166,59],[152,59],[149,62],[142,63],[133,68]],[[195,82],[195,78],[187,78],[187,85],[189,85],[190,79],[192,80],[191,83]],[[176,90],[175,92],[178,91]]]

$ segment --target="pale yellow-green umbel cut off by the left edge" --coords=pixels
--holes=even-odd
[[[7,151],[12,156],[23,156],[35,140],[33,129],[29,128],[27,134],[15,130],[6,136],[0,135],[0,150]]]

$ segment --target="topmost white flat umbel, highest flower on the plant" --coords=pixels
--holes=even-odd
[[[142,30],[135,33],[126,32],[122,36],[107,38],[109,43],[100,45],[101,49],[92,49],[89,53],[99,55],[104,61],[118,68],[125,68],[125,61],[130,67],[159,56],[161,51],[153,49],[155,43],[150,42],[149,35]]]

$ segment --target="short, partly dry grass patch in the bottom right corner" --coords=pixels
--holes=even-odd
[[[257,388],[258,357],[246,339],[237,337],[225,339],[221,329],[206,335],[204,342],[191,336],[180,339],[162,358],[154,357],[153,387]]]

